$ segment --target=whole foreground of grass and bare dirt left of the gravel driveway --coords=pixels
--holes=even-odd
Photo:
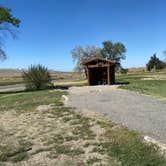
[[[166,165],[157,146],[104,117],[65,107],[64,94],[0,95],[0,165]]]

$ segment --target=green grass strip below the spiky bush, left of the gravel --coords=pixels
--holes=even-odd
[[[52,92],[49,90],[43,91],[32,91],[32,92],[18,92],[16,95],[9,95],[3,97],[5,94],[0,96],[0,111],[7,111],[15,109],[19,111],[30,111],[34,110],[39,105],[47,105],[50,103],[56,104],[56,106],[62,106],[61,101],[62,94],[64,92]]]

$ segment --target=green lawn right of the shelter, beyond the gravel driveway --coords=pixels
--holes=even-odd
[[[166,73],[121,75],[117,76],[117,81],[126,83],[120,86],[122,89],[166,97]]]

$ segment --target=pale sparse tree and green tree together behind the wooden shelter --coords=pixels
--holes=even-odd
[[[125,59],[126,47],[121,42],[113,43],[112,41],[104,41],[102,43],[102,48],[98,48],[96,46],[76,46],[72,51],[73,61],[76,62],[76,66],[74,71],[80,72],[83,70],[83,66],[81,65],[82,61],[93,57],[102,57],[106,59],[115,60],[117,62]]]

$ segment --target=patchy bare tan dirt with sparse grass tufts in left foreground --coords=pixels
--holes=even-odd
[[[0,165],[74,166],[99,162],[118,166],[116,159],[93,152],[93,143],[97,144],[105,132],[95,117],[97,114],[89,114],[86,118],[54,104],[25,112],[1,112],[0,161],[4,162]]]

